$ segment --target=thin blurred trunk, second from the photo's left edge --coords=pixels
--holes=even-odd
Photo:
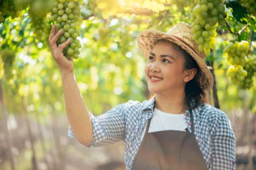
[[[36,162],[36,150],[34,148],[34,136],[32,134],[32,130],[31,130],[31,127],[30,127],[30,121],[29,121],[29,118],[28,118],[28,110],[27,110],[27,107],[26,107],[26,99],[25,99],[25,97],[22,97],[22,107],[23,107],[23,110],[24,110],[24,118],[26,120],[26,126],[28,128],[28,136],[30,137],[30,142],[31,142],[32,169],[33,170],[37,170],[38,166],[37,166],[37,162]]]

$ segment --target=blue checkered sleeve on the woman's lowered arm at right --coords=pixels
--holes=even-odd
[[[212,116],[214,123],[210,128],[212,133],[212,169],[236,169],[236,139],[230,120],[220,110],[212,115],[214,115]]]

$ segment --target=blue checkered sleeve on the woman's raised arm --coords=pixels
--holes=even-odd
[[[100,116],[92,116],[93,140],[90,147],[104,146],[125,138],[125,104],[117,105]],[[69,126],[68,136],[74,138]]]

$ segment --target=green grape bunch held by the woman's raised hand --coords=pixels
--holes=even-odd
[[[77,37],[79,36],[79,25],[82,22],[78,0],[55,0],[51,11],[51,21],[55,22],[58,30],[63,31],[58,44],[62,44],[68,38],[71,40],[69,46],[64,48],[63,53],[68,58],[78,58],[81,44]]]

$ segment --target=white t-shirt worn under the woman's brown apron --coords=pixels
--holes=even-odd
[[[181,130],[185,131],[187,124],[184,114],[169,114],[154,108],[154,116],[152,117],[148,132],[158,132],[162,130]],[[148,123],[147,123],[148,124]],[[143,130],[141,140],[146,132],[146,127]]]

